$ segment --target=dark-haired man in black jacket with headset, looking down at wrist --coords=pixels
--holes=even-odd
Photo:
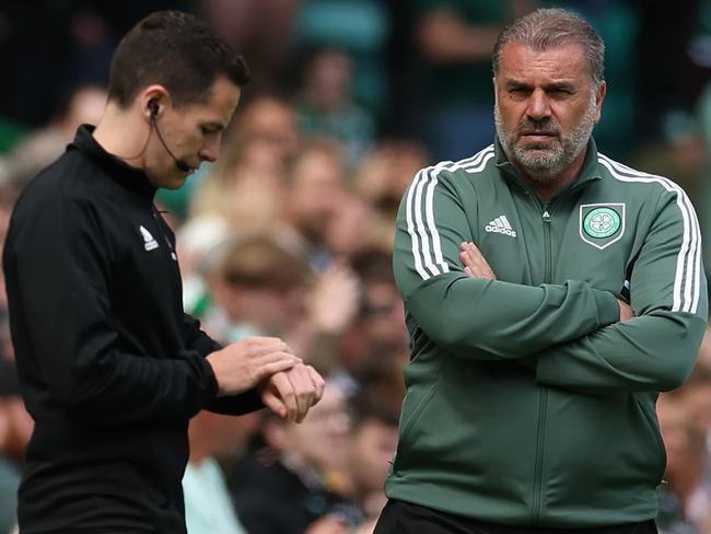
[[[15,206],[3,267],[35,431],[23,534],[185,532],[190,417],[268,406],[301,420],[323,379],[276,338],[221,348],[186,315],[153,205],[214,161],[248,76],[203,22],[153,13],[119,44],[96,129]]]

